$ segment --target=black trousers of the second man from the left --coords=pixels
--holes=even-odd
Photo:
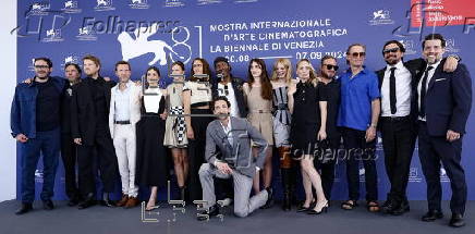
[[[71,133],[61,134],[61,159],[64,164],[64,178],[66,195],[70,199],[80,196],[76,183],[76,144],[73,141]]]

